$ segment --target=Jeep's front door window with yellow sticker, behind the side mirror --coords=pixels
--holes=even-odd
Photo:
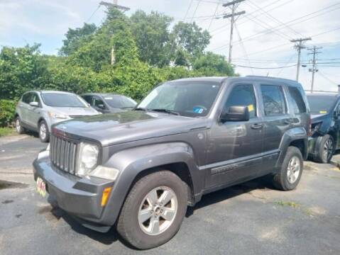
[[[251,118],[256,116],[256,97],[253,85],[237,85],[231,91],[228,100],[224,106],[224,111],[228,111],[231,106],[248,106]]]

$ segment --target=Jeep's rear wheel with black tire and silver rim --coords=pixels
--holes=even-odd
[[[288,147],[280,172],[273,178],[274,186],[281,191],[292,191],[299,184],[303,170],[300,149]]]

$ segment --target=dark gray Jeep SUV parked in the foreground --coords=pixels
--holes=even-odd
[[[85,227],[138,249],[164,244],[187,205],[271,175],[290,191],[307,157],[302,86],[268,77],[169,81],[133,109],[54,125],[33,163],[39,193]]]

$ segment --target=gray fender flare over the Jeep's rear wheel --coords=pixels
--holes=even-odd
[[[304,143],[304,151],[302,152],[302,157],[307,159],[308,157],[308,135],[305,128],[291,128],[287,130],[281,139],[280,142],[280,154],[278,157],[278,162],[276,162],[276,167],[280,167],[283,164],[283,160],[285,159],[285,154],[287,153],[287,149],[289,145],[297,140],[303,140]]]

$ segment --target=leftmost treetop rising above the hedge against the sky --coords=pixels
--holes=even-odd
[[[76,52],[84,42],[88,42],[91,35],[95,33],[97,26],[94,24],[84,23],[82,28],[69,28],[65,34],[66,39],[63,40],[63,46],[61,47],[59,54],[63,56],[69,56],[73,52]]]

